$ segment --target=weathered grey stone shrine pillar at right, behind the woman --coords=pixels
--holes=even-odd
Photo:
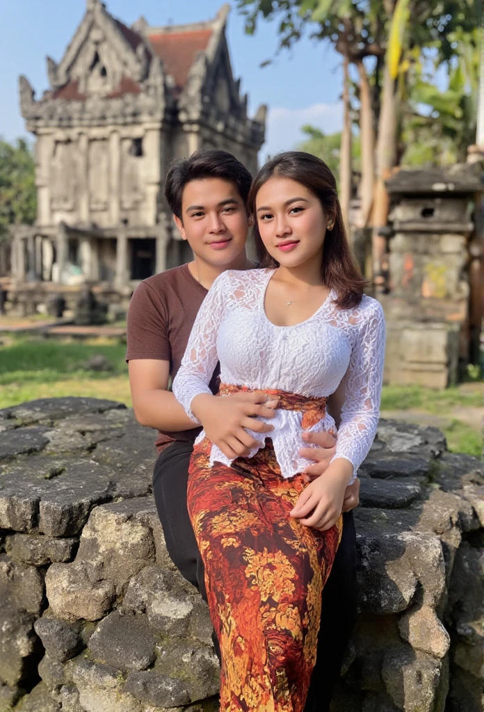
[[[393,209],[385,382],[446,388],[476,361],[482,322],[481,236],[473,211],[482,164],[400,169],[386,181]]]

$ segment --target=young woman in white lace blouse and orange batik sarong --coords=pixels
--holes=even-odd
[[[325,163],[283,153],[258,173],[248,200],[265,269],[216,279],[194,323],[174,394],[197,415],[214,397],[264,392],[277,401],[270,439],[231,459],[204,432],[191,459],[188,508],[221,647],[223,712],[300,712],[320,625],[321,592],[342,530],[344,490],[379,418],[384,318],[363,294]],[[301,429],[335,431],[335,456],[305,483]],[[248,440],[249,441],[249,440]]]

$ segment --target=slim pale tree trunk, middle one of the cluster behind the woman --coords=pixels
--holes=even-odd
[[[357,62],[359,72],[359,132],[362,147],[362,182],[360,193],[362,199],[362,223],[366,226],[373,203],[374,188],[374,132],[372,98],[368,81],[367,69],[362,60]]]

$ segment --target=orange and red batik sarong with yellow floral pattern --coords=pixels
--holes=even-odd
[[[325,399],[270,394],[303,411],[303,427],[324,417]],[[319,532],[290,517],[306,483],[281,476],[270,441],[230,467],[210,466],[210,451],[208,439],[194,447],[187,502],[221,649],[221,712],[302,712],[342,518]]]

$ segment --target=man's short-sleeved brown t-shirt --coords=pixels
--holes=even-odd
[[[188,265],[174,267],[145,279],[137,286],[127,313],[126,360],[169,361],[172,379],[177,375],[191,327],[207,290],[191,276]],[[219,367],[211,379],[217,392]],[[193,441],[201,428],[181,432],[159,431],[159,450],[174,440]]]

